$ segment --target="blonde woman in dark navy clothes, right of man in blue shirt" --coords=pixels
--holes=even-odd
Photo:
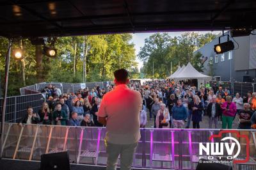
[[[202,105],[201,99],[198,95],[194,96],[194,104],[192,107],[192,121],[193,121],[193,128],[200,128],[200,121],[202,121],[202,111],[204,107]]]

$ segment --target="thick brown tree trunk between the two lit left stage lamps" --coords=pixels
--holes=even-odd
[[[41,45],[36,45],[36,79],[37,82],[44,82],[43,54]]]

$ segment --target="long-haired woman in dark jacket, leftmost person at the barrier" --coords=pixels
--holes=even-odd
[[[33,107],[28,106],[27,107],[27,114],[22,118],[22,121],[20,122],[24,124],[37,124],[40,123],[40,116],[33,112]]]

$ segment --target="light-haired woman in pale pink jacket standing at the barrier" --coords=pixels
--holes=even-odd
[[[170,114],[165,104],[160,104],[160,110],[156,115],[156,128],[170,128]]]

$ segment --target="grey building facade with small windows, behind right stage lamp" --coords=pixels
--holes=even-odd
[[[225,35],[229,32],[225,33]],[[202,54],[204,73],[221,79],[221,81],[255,82],[256,81],[256,35],[239,36],[230,40],[234,42],[235,49],[223,54],[214,52],[214,45],[219,38],[207,43],[196,50],[194,54]],[[227,36],[222,36],[220,42],[226,42]]]

